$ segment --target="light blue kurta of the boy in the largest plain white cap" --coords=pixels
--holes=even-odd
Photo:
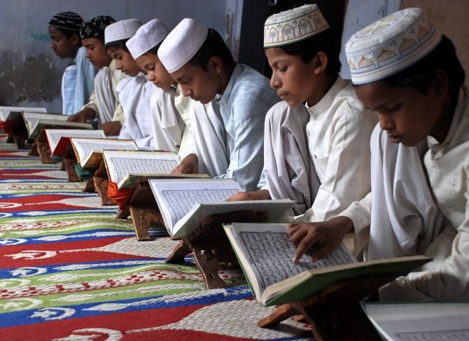
[[[244,190],[255,190],[264,165],[265,114],[279,101],[267,77],[237,64],[218,102],[230,155],[228,169],[219,177],[235,178]]]

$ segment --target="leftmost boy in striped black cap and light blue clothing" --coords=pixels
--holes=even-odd
[[[62,113],[72,115],[80,111],[89,99],[94,86],[95,70],[85,58],[81,46],[80,25],[83,19],[74,12],[60,12],[48,24],[52,45],[50,48],[62,59],[72,59],[75,64],[67,67],[62,76]]]

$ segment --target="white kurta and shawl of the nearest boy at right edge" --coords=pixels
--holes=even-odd
[[[374,257],[381,256],[377,251],[389,249],[389,244],[394,244],[395,240],[407,242],[400,246],[405,254],[419,253],[424,249],[424,254],[433,257],[433,261],[424,265],[421,271],[411,272],[407,277],[399,277],[381,288],[379,293],[381,300],[468,301],[469,105],[467,90],[462,88],[459,93],[456,112],[445,141],[438,144],[435,139],[428,138],[430,150],[426,152],[424,165],[431,194],[427,190],[428,183],[425,181],[425,174],[421,172],[420,159],[415,160],[417,158],[415,155],[413,159],[407,157],[405,160],[392,160],[393,154],[386,155],[384,153],[386,148],[382,148],[384,146],[382,142],[386,141],[387,137],[383,136],[384,134],[374,135],[380,138],[372,139],[372,155],[377,153],[378,157],[388,165],[396,165],[396,168],[400,168],[400,170],[396,169],[395,174],[398,176],[395,176],[394,172],[382,172],[383,179],[381,183],[376,183],[376,186],[386,193],[386,188],[391,188],[388,183],[393,183],[397,195],[384,198],[375,195],[373,182],[372,195],[368,195],[361,202],[354,202],[340,215],[349,216],[358,231],[363,230],[363,226],[367,223],[371,223],[370,230],[376,230],[377,233],[376,237],[370,239],[368,250],[376,250],[373,251]],[[377,143],[379,141],[381,141],[381,146]],[[405,147],[399,146],[398,148]],[[374,159],[374,156],[372,158]],[[373,172],[380,170],[379,167],[372,169]],[[399,175],[400,172],[402,175]],[[378,176],[377,179],[379,179]],[[419,181],[419,183],[415,184],[414,181]],[[437,213],[432,208],[432,195],[438,209],[444,215],[442,225],[438,225]],[[386,215],[386,212],[379,212],[381,216],[375,218],[372,202],[377,202],[380,198],[384,201],[380,203],[380,206],[386,205],[387,208],[388,217],[385,221],[390,224],[383,223],[382,214]],[[418,223],[419,220],[423,223]],[[395,256],[401,255],[402,252]],[[368,256],[371,256],[370,252]]]

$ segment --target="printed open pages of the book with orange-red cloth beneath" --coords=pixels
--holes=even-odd
[[[115,183],[127,174],[170,174],[179,165],[176,153],[104,151],[103,158]]]

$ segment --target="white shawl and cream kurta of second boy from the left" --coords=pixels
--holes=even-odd
[[[120,105],[117,85],[127,76],[116,68],[116,62],[113,60],[109,67],[99,69],[94,77],[94,91],[90,96],[90,102],[83,106],[97,112],[99,124],[119,120],[124,122],[124,112]]]

